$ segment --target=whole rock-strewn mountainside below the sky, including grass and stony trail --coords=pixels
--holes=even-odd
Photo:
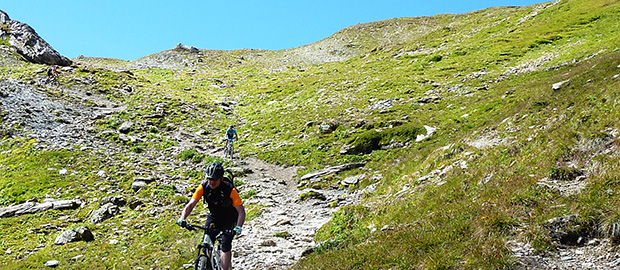
[[[215,160],[248,211],[234,269],[620,267],[619,30],[620,2],[560,0],[52,83],[0,42],[0,268],[191,268],[174,221]]]

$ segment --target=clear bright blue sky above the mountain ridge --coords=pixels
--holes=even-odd
[[[400,17],[465,13],[543,0],[0,0],[61,54],[133,60],[174,48],[295,48],[340,29]]]

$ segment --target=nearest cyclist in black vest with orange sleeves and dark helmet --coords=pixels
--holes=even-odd
[[[204,198],[209,208],[207,227],[214,224],[217,230],[228,230],[234,227],[235,234],[241,234],[245,222],[245,208],[233,184],[224,181],[224,167],[221,163],[212,163],[205,170],[207,181],[198,186],[189,203],[183,208],[177,224],[185,227],[185,218],[192,212],[200,198]],[[215,241],[218,232],[209,233],[211,241]],[[233,235],[222,235],[222,269],[230,269],[232,257]]]

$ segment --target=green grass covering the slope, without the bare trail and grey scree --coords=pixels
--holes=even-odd
[[[316,44],[278,52],[208,51],[200,57],[172,52],[174,59],[186,59],[190,67],[134,71],[136,79],[127,79],[136,86],[133,96],[108,93],[110,98],[128,104],[130,110],[100,122],[100,128],[113,128],[124,119],[144,122],[141,116],[163,106],[169,117],[154,123],[159,130],[174,123],[193,131],[204,129],[215,140],[221,136],[219,129],[228,123],[239,123],[243,153],[303,166],[300,174],[345,162],[369,162],[367,167],[383,176],[376,193],[367,196],[364,206],[339,211],[317,235],[318,241],[331,240],[326,242],[329,244],[294,268],[510,266],[514,259],[505,248],[508,239],[529,241],[539,250],[554,248],[542,226],[549,218],[579,214],[583,226],[601,228],[620,218],[613,196],[618,192],[618,155],[604,152],[607,148],[617,149],[610,129],[618,129],[613,120],[618,119],[618,80],[614,76],[619,73],[620,64],[616,45],[620,44],[620,6],[603,0],[562,1],[542,9],[549,4],[356,25],[317,43],[336,56],[354,56],[341,62],[329,62],[332,58],[325,57],[330,55],[329,51],[312,57],[304,54],[308,49],[305,47]],[[536,16],[530,17],[531,14]],[[165,59],[164,56],[152,57]],[[309,62],[323,59],[329,63],[310,65],[308,61],[297,61],[298,56],[315,59]],[[574,59],[578,61],[573,63]],[[127,65],[118,60],[89,60],[89,64],[109,67]],[[290,62],[283,65],[284,60]],[[135,62],[140,61],[145,59]],[[527,67],[534,67],[535,71],[518,72]],[[29,74],[36,68],[12,68],[13,75],[5,76],[28,79],[34,76]],[[116,84],[105,79],[116,76],[115,73],[102,71],[96,76],[106,91]],[[552,84],[567,79],[570,81],[560,90],[552,90]],[[429,95],[438,100],[417,103]],[[387,112],[370,108],[375,102],[390,98],[396,100]],[[214,100],[238,102],[234,115],[227,116]],[[201,111],[184,109],[189,105],[196,105]],[[361,120],[364,125],[360,126]],[[309,121],[317,124],[308,125]],[[321,122],[333,123],[337,128],[330,134],[319,134]],[[437,127],[438,131],[430,139],[410,143],[403,149],[378,150],[361,156],[339,154],[342,145],[358,137],[410,139],[410,134],[375,134],[376,130],[401,124],[411,132],[423,125]],[[483,134],[510,143],[484,149],[467,144]],[[161,133],[138,135],[148,138],[147,142],[127,145],[128,151],[131,147],[165,149],[174,145]],[[263,143],[257,146],[260,142]],[[48,193],[46,190],[71,186],[76,181],[88,188],[58,190],[52,196],[107,196],[96,184],[97,168],[105,164],[97,157],[74,164],[73,160],[87,154],[41,153],[20,140],[5,140],[2,148],[18,149],[0,155],[0,184],[5,194],[2,205],[42,198]],[[129,161],[131,164],[132,160]],[[437,169],[463,163],[467,166],[455,166],[440,178],[431,178],[442,185],[419,180]],[[57,169],[68,164],[78,174],[64,181]],[[590,185],[581,194],[565,197],[536,184],[545,177],[570,173],[569,164],[587,172]],[[45,182],[49,188],[26,188],[29,178],[20,177],[26,181],[16,182],[17,176],[12,174],[15,168],[37,180],[48,179]],[[194,179],[192,172],[172,173]],[[360,172],[349,174],[357,173]],[[333,176],[332,182],[325,185],[345,176]],[[166,187],[132,194],[130,179],[114,176],[106,184],[125,190],[121,195],[127,197],[150,198],[158,194],[157,199],[147,200],[145,209],[170,203],[180,209],[182,202]],[[360,188],[375,182],[369,176]],[[407,192],[392,195],[404,186],[409,187]],[[29,190],[31,194],[20,190]],[[3,235],[8,237],[0,240],[0,250],[11,248],[14,254],[21,254],[39,244],[44,247],[33,255],[5,256],[7,260],[0,265],[40,267],[48,259],[69,262],[70,258],[85,254],[87,259],[70,265],[76,269],[93,262],[102,268],[115,264],[178,268],[191,259],[191,251],[185,246],[192,246],[188,243],[193,238],[179,234],[171,225],[178,209],[164,208],[154,214],[130,210],[93,227],[98,239],[94,243],[61,247],[52,244],[55,231],[25,234],[22,227],[14,226],[24,220],[30,223],[28,228],[48,223],[61,227],[88,224],[57,218],[68,215],[86,220],[88,211],[97,206],[91,203],[74,212],[1,219]],[[384,226],[391,229],[372,229]],[[107,244],[114,237],[121,239],[122,244]],[[25,260],[16,261],[16,257]]]

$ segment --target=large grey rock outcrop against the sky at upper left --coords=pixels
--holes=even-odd
[[[27,61],[37,64],[69,66],[72,61],[58,53],[28,24],[11,20],[0,10],[0,38],[8,39],[13,49]]]

